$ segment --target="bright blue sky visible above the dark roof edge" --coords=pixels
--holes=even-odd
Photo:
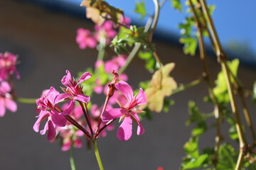
[[[64,0],[72,1],[75,4],[80,4],[81,0]],[[113,6],[122,8],[126,16],[132,18],[133,21],[139,21],[139,15],[134,13],[134,4],[136,1],[141,0],[129,0],[129,1],[117,1],[107,0]],[[154,12],[154,4],[152,0],[144,0],[146,2],[146,8],[148,13]],[[185,0],[181,0],[183,3]],[[255,0],[208,0],[208,4],[215,4],[216,8],[213,13],[213,21],[218,31],[220,41],[224,47],[228,42],[240,42],[248,45],[252,52],[256,54],[256,1]],[[186,11],[186,10],[185,10]],[[169,31],[179,35],[178,23],[181,23],[187,16],[187,13],[179,13],[171,8],[171,1],[167,0],[164,7],[161,9],[159,25],[157,29]],[[143,22],[143,21],[140,21]],[[234,50],[235,49],[230,49]],[[256,58],[256,57],[255,57]]]

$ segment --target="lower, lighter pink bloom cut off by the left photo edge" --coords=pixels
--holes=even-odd
[[[11,112],[17,111],[16,103],[11,100],[10,91],[11,86],[6,81],[0,81],[0,117],[4,116],[6,108]]]

